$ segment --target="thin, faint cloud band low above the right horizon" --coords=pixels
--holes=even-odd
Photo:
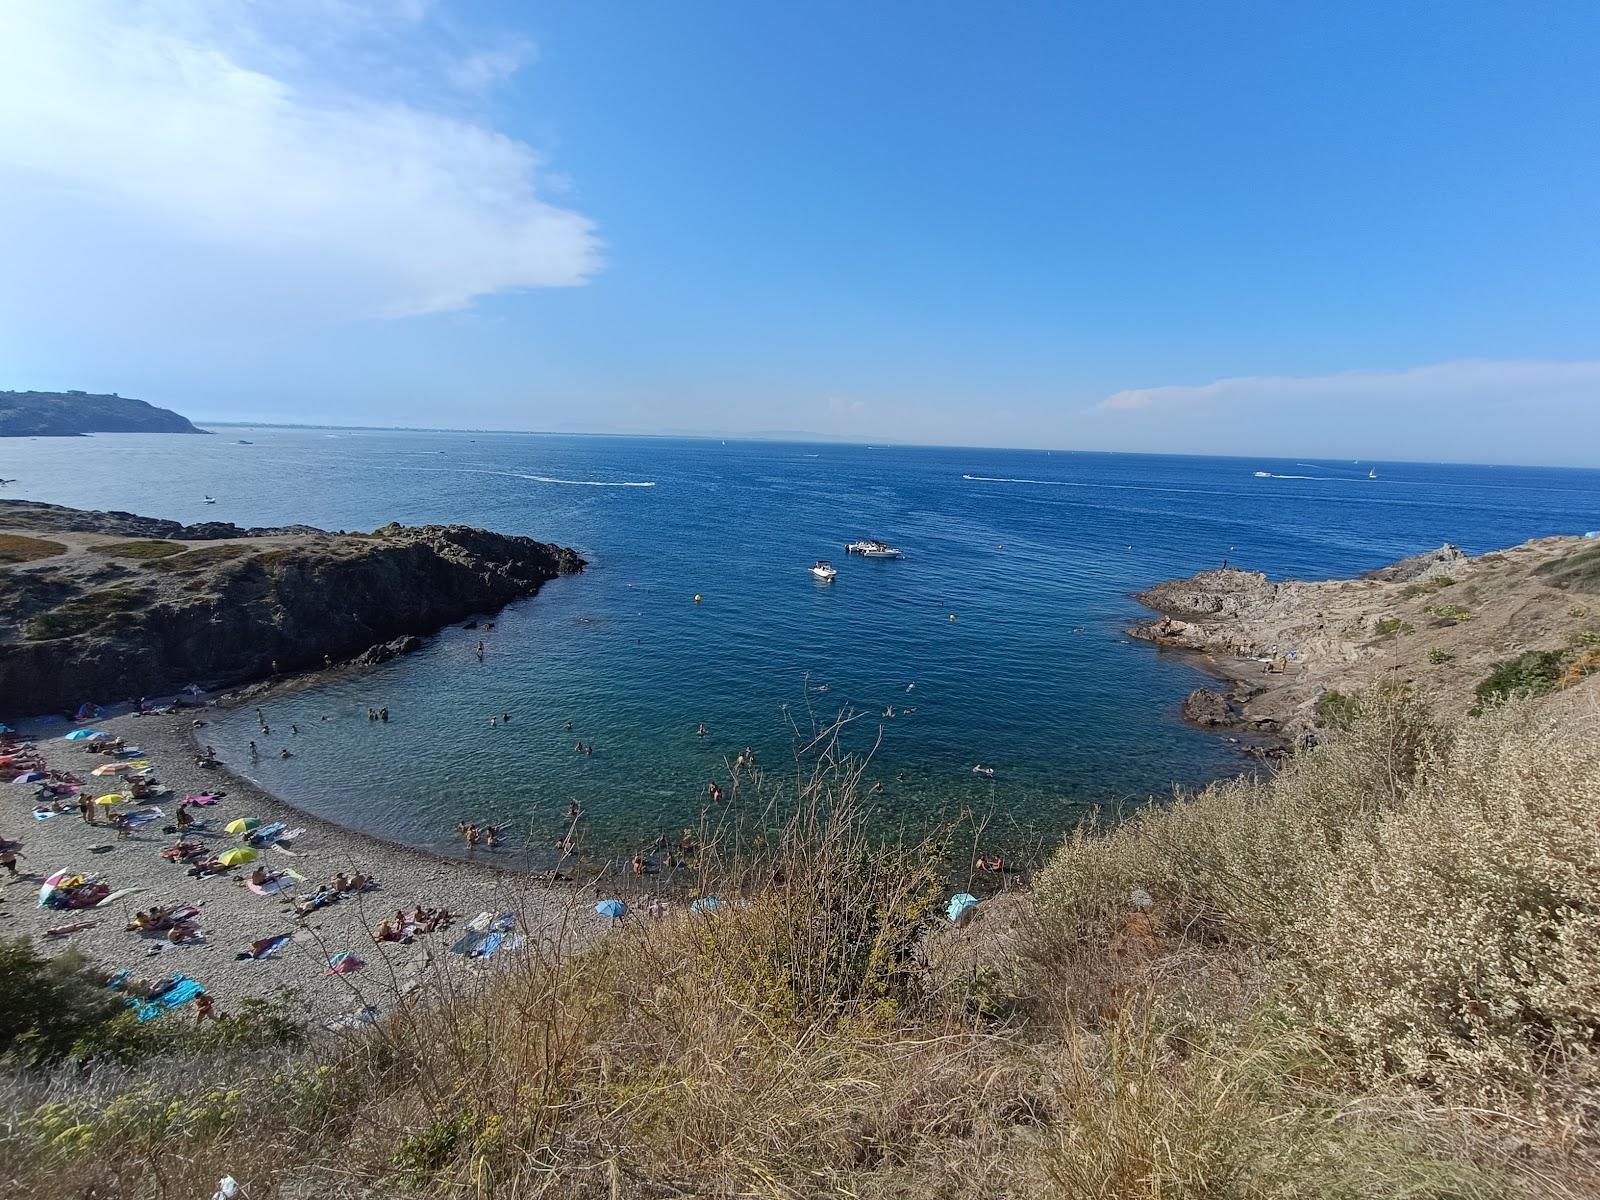
[[[1397,371],[1334,374],[1246,374],[1210,384],[1134,387],[1099,402],[1098,408],[1238,405],[1246,402],[1394,402],[1600,398],[1600,362],[1461,360]]]

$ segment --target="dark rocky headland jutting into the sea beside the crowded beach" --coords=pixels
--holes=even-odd
[[[582,568],[464,525],[242,530],[0,501],[0,712],[322,667]]]

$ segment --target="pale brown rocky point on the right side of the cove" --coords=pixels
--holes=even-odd
[[[1226,680],[1190,693],[1184,717],[1280,746],[1374,686],[1411,688],[1451,717],[1514,691],[1600,704],[1600,544],[1586,538],[1477,557],[1442,546],[1358,579],[1222,568],[1136,598],[1158,616],[1133,637],[1195,653]]]

